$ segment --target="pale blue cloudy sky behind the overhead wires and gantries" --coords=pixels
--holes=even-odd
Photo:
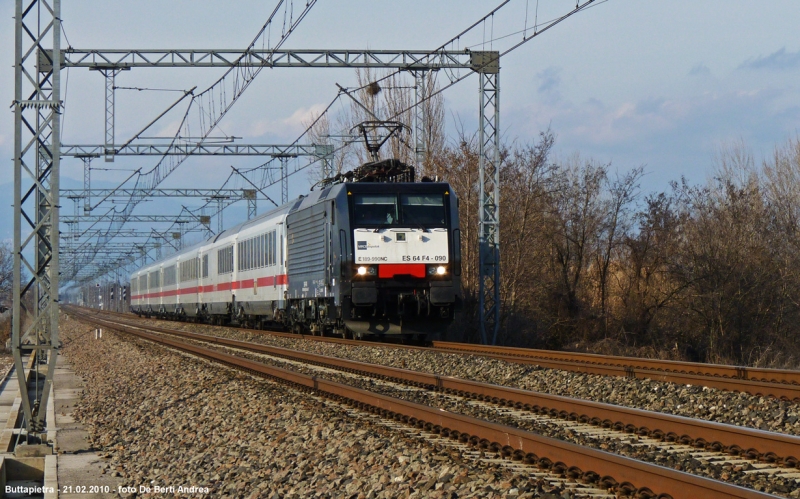
[[[296,2],[295,12],[305,2]],[[473,0],[333,2],[319,0],[284,48],[432,50],[480,19],[496,4]],[[231,8],[231,5],[235,5]],[[62,1],[65,39],[76,48],[245,48],[274,8],[273,2],[241,0]],[[505,48],[535,20],[570,10],[563,0],[512,0],[458,47]],[[0,95],[13,99],[14,2],[0,4]],[[579,153],[612,169],[644,166],[645,192],[668,188],[682,176],[702,183],[713,174],[720,148],[743,142],[756,158],[796,138],[800,128],[800,38],[797,3],[788,0],[608,0],[535,37],[501,60],[500,128],[503,139],[534,141],[550,127],[555,153]],[[507,34],[508,38],[491,41]],[[487,43],[488,42],[488,43]],[[478,45],[476,45],[478,44]],[[134,69],[118,86],[204,89],[220,69]],[[62,74],[65,115],[62,142],[103,142],[102,76],[79,68]],[[336,84],[356,86],[350,70],[262,71],[221,123],[241,143],[287,143],[309,116],[336,96]],[[178,94],[117,92],[116,133],[126,140]],[[444,93],[448,131],[456,123],[477,127],[478,80],[474,75]],[[182,111],[153,127],[168,135]],[[148,132],[149,133],[149,132]],[[13,176],[13,114],[0,120],[0,189]],[[95,172],[93,186],[112,187],[135,168],[157,158],[118,159],[117,172]],[[164,187],[219,187],[230,166],[258,158],[191,158]],[[62,161],[62,186],[82,183],[82,163]],[[308,190],[307,175],[290,182],[291,197]],[[266,191],[280,197],[277,187]],[[176,213],[176,204],[144,203],[139,213]],[[63,204],[72,212],[70,202]],[[260,206],[263,209],[263,205]],[[226,212],[226,225],[244,217]],[[0,239],[12,237],[11,207],[0,206]]]

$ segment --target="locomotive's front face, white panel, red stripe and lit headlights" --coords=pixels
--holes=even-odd
[[[424,336],[444,329],[460,304],[460,231],[450,186],[353,184],[347,198],[347,327],[362,335]]]

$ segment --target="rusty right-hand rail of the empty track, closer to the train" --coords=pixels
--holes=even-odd
[[[800,437],[793,435],[352,361],[160,326],[148,325],[142,327],[102,319],[97,316],[89,317],[80,312],[76,313],[76,316],[84,317],[87,321],[93,321],[110,328],[125,327],[130,330],[134,328],[156,331],[181,338],[265,353],[292,360],[301,360],[315,365],[390,379],[422,386],[430,390],[517,407],[562,419],[572,419],[582,423],[614,428],[618,431],[636,433],[640,436],[650,436],[698,448],[708,448],[715,452],[729,452],[733,455],[742,454],[749,459],[761,459],[776,464],[783,463],[792,467],[800,466],[800,460],[798,460],[798,457],[800,457]]]

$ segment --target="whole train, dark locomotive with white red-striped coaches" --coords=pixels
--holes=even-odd
[[[146,317],[423,340],[461,307],[458,198],[390,159],[139,268]]]

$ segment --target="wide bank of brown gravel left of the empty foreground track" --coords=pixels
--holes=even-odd
[[[463,459],[286,386],[62,320],[85,381],[75,417],[145,497],[534,497],[549,486]],[[159,487],[159,488],[156,488]]]

